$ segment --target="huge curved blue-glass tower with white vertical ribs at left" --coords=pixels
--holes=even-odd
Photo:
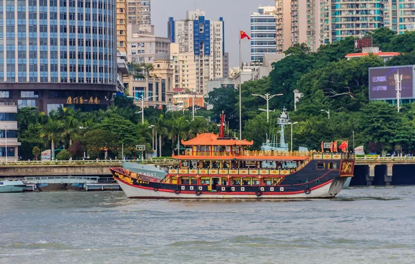
[[[0,3],[0,102],[44,112],[111,104],[116,0]]]

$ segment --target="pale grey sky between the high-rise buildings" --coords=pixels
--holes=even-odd
[[[186,18],[187,10],[205,11],[206,19],[225,21],[225,52],[230,56],[230,67],[239,64],[239,30],[250,35],[250,14],[259,6],[273,6],[275,0],[151,0],[151,23],[156,35],[167,37],[167,21]],[[242,62],[250,62],[250,41],[242,40]]]

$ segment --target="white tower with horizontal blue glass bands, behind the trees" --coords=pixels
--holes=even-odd
[[[276,53],[275,6],[260,6],[250,16],[251,62],[262,62],[264,53]]]

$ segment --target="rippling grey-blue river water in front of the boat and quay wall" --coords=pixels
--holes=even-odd
[[[0,263],[415,263],[415,187],[333,200],[0,194]]]

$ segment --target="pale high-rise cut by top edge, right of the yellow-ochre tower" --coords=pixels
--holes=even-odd
[[[151,1],[127,0],[128,23],[136,25],[151,25]]]

